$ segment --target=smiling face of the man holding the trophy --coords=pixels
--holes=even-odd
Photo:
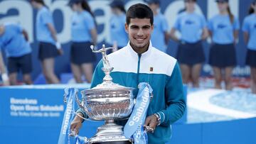
[[[131,18],[129,25],[125,24],[125,30],[129,35],[133,47],[140,49],[149,45],[151,33],[154,27],[149,18]]]

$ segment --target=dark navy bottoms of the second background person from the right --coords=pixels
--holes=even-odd
[[[235,67],[236,63],[235,45],[233,43],[226,45],[215,43],[210,48],[209,64],[211,66]]]

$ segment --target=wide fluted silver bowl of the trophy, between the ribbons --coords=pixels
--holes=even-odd
[[[95,87],[82,94],[82,109],[93,120],[117,120],[127,118],[134,107],[133,88],[114,84],[111,89]]]

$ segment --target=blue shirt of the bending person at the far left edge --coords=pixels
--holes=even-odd
[[[31,47],[22,34],[22,28],[15,24],[5,25],[0,35],[0,48],[4,48],[6,57],[20,57],[31,52]]]

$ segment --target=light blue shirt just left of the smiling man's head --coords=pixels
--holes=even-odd
[[[128,35],[125,32],[125,14],[122,14],[120,16],[113,15],[110,18],[110,38],[111,43],[114,44],[114,41],[117,41],[117,46],[119,48],[122,48],[127,45],[128,43]]]

